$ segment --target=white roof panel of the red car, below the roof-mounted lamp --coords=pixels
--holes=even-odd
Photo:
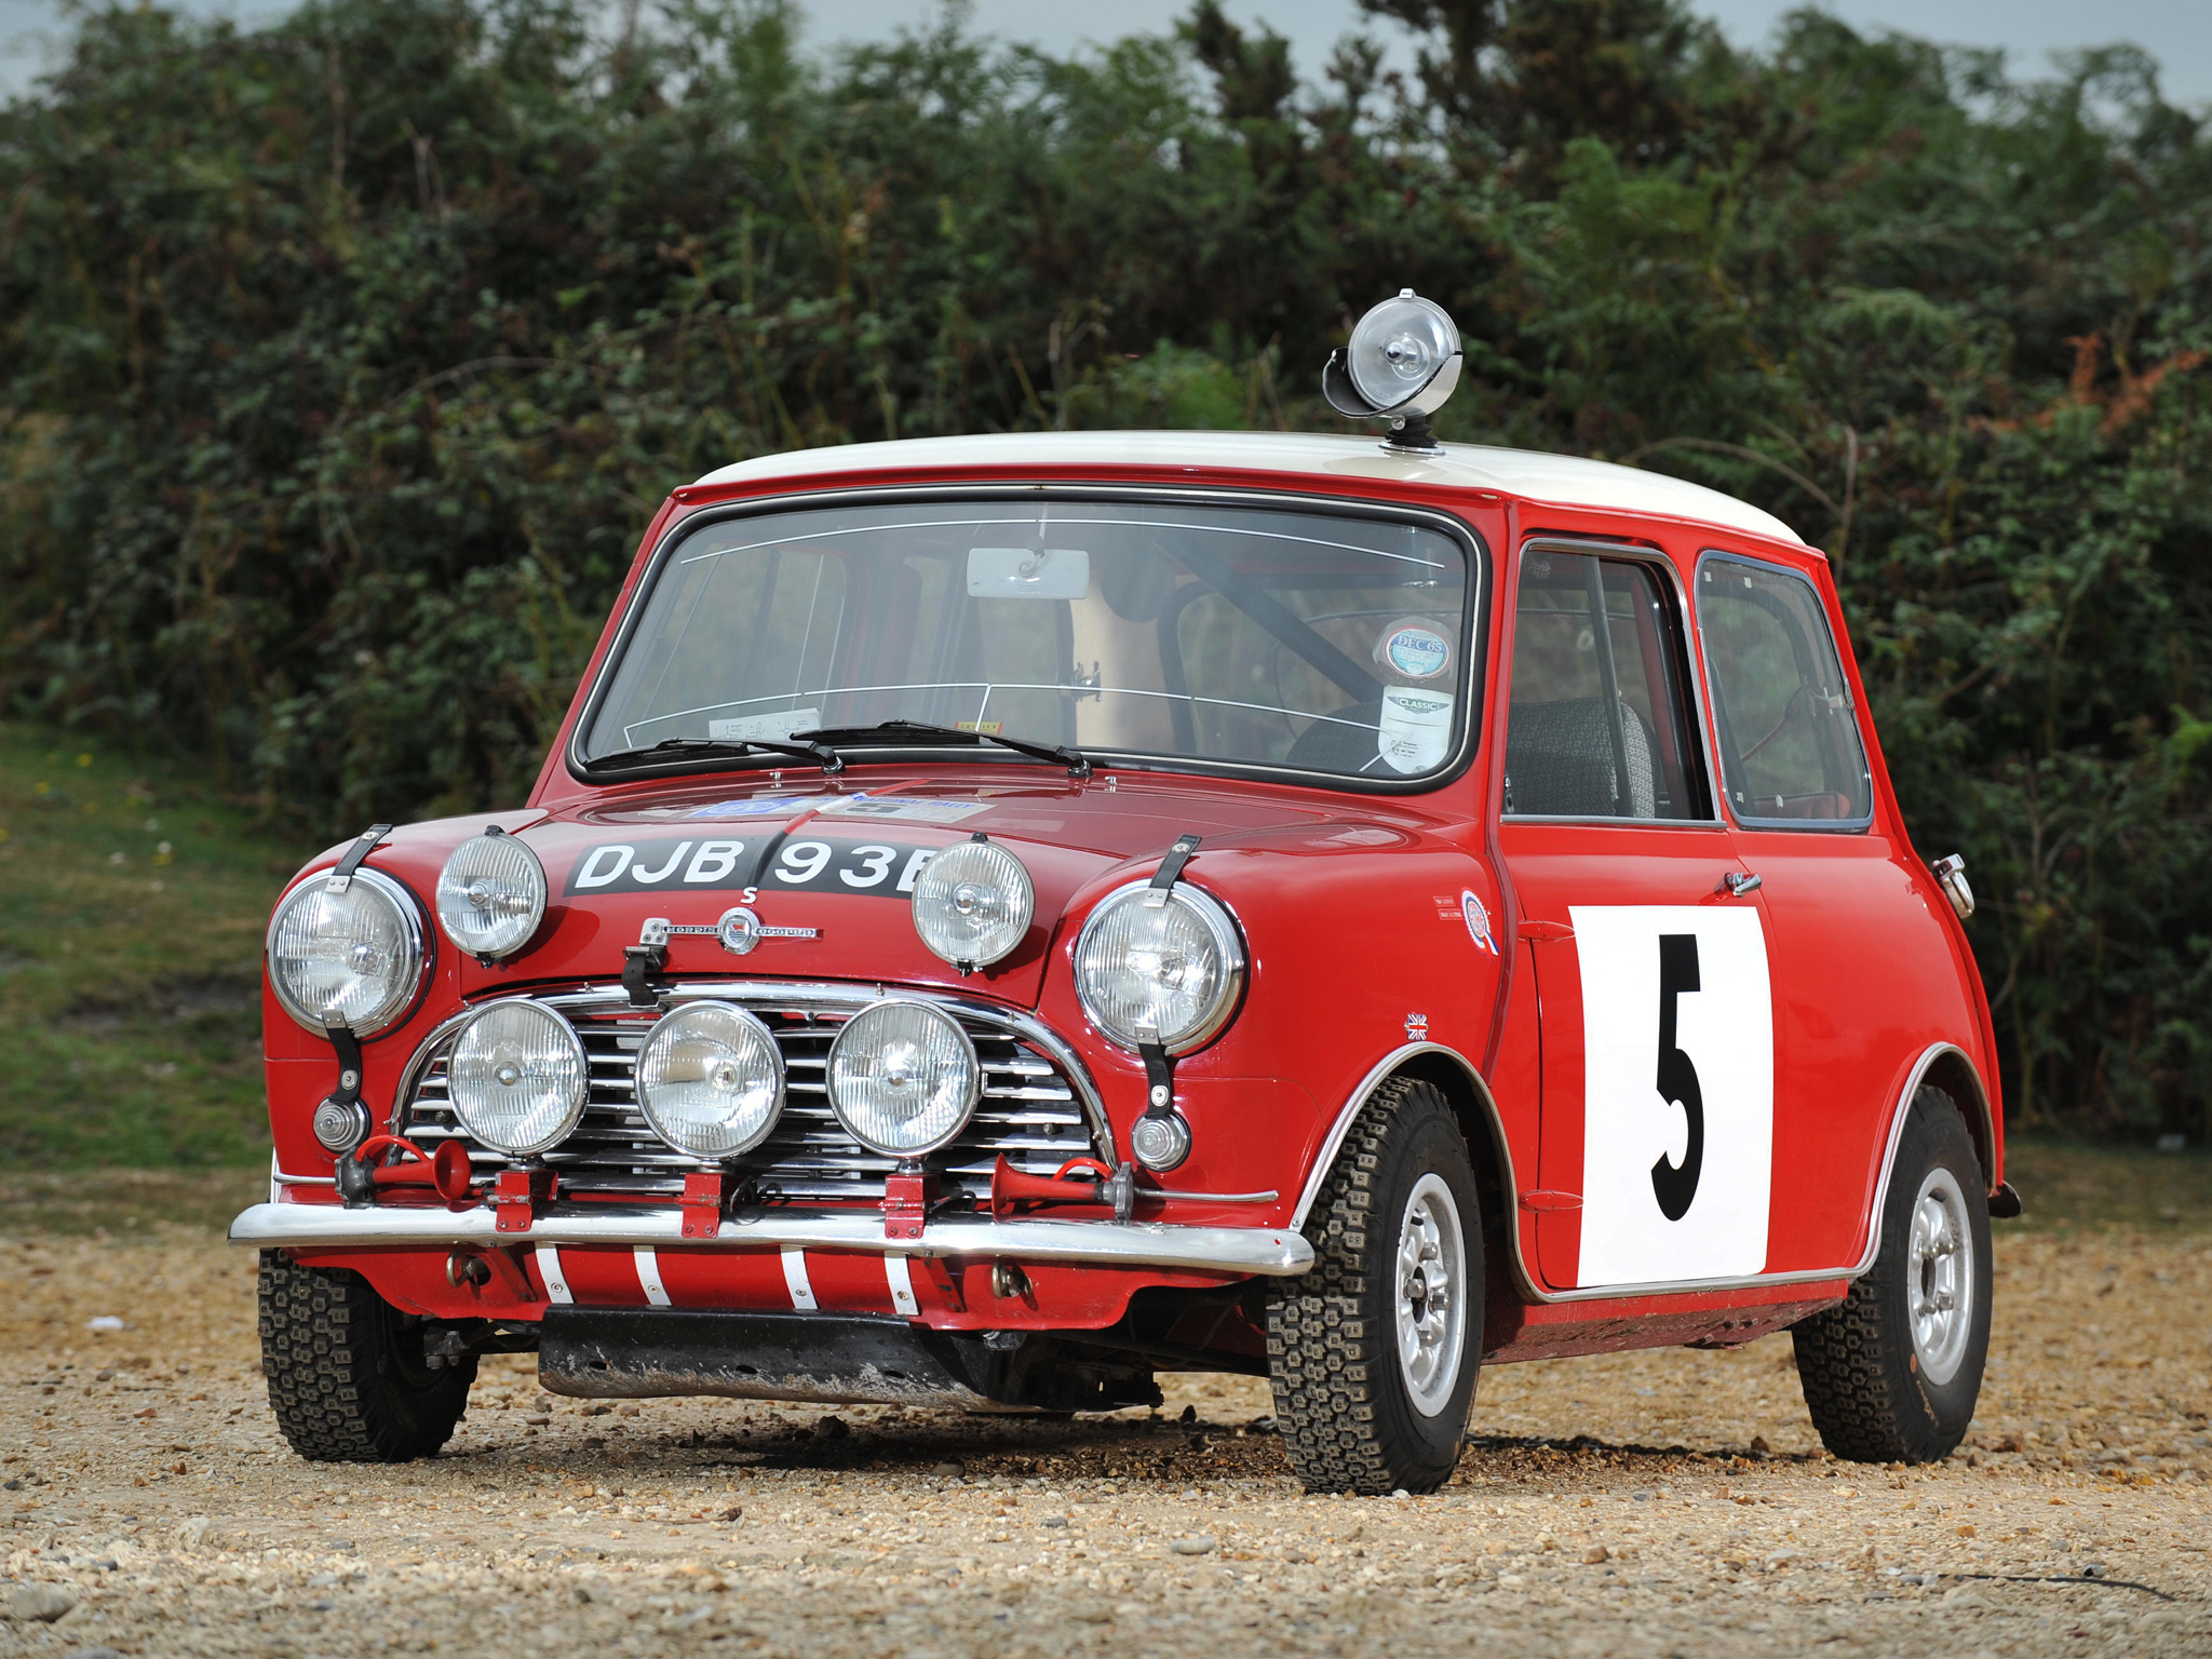
[[[1004,431],[975,438],[787,449],[719,467],[701,484],[754,484],[830,473],[929,467],[1190,467],[1374,478],[1449,489],[1495,489],[1555,507],[1595,507],[1725,524],[1778,542],[1801,542],[1774,513],[1666,473],[1533,449],[1444,445],[1442,456],[1389,456],[1376,438],[1312,431]]]

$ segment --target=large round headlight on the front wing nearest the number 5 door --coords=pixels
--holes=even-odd
[[[1150,880],[1099,900],[1075,940],[1075,993],[1091,1024],[1124,1048],[1157,1042],[1183,1055],[1210,1042],[1243,993],[1237,922],[1197,887],[1166,902]]]

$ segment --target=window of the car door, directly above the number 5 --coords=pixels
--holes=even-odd
[[[1683,661],[1681,624],[1648,564],[1522,553],[1506,814],[1710,818]]]

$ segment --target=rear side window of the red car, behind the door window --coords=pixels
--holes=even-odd
[[[1867,823],[1867,750],[1812,582],[1767,564],[1708,557],[1697,575],[1697,622],[1736,818],[1776,827]]]

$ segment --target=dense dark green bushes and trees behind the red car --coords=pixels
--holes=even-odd
[[[1411,283],[1440,427],[1668,469],[1836,560],[2028,1121],[2212,1097],[2212,142],[1805,11],[1199,4],[1071,60],[779,0],[80,18],[0,111],[0,695],[349,827],[520,794],[675,482],[794,445],[1329,425]]]

